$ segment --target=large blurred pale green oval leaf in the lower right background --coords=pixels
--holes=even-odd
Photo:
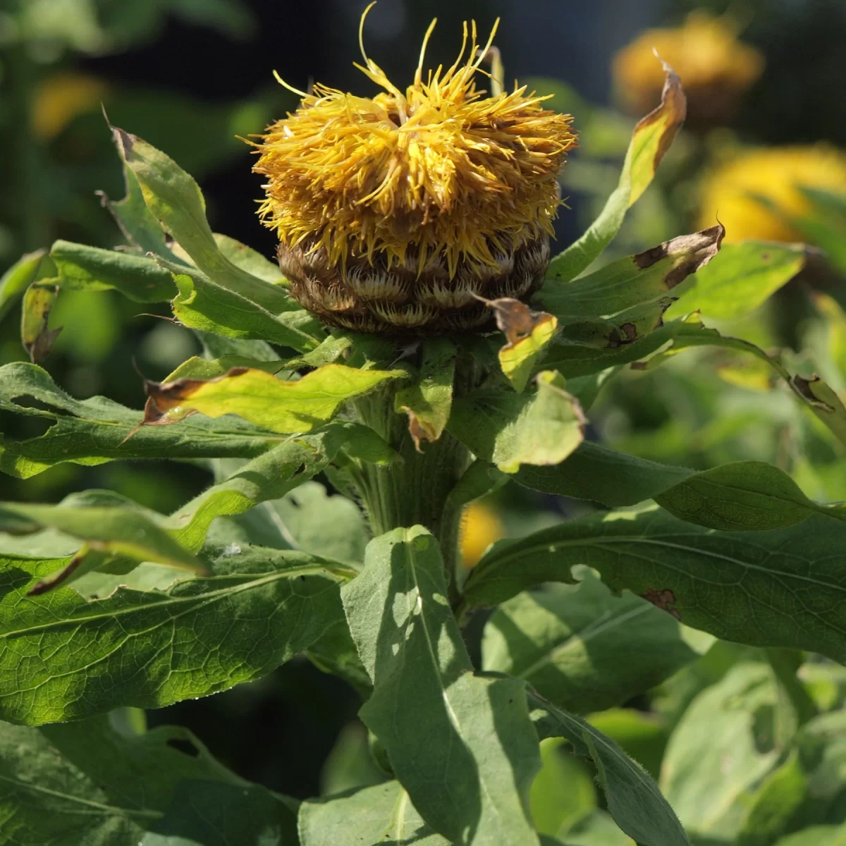
[[[694,835],[733,842],[739,799],[778,761],[772,732],[777,691],[766,664],[742,662],[696,697],[670,736],[661,787]]]

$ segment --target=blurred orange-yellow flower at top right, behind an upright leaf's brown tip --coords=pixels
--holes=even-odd
[[[644,114],[661,101],[664,72],[655,52],[678,74],[688,96],[688,123],[720,124],[764,69],[761,53],[738,41],[730,19],[691,12],[677,29],[646,30],[613,62],[614,90],[624,107]]]

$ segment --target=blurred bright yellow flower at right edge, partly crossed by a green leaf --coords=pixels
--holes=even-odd
[[[700,224],[711,226],[719,217],[727,241],[800,241],[802,236],[782,216],[803,217],[810,211],[798,186],[846,194],[846,154],[824,145],[745,151],[706,175]]]

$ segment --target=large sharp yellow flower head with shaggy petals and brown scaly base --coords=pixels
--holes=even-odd
[[[483,96],[475,79],[494,32],[480,50],[475,23],[464,24],[452,67],[424,80],[434,25],[405,91],[362,46],[365,65],[356,67],[381,93],[297,92],[296,112],[256,145],[254,169],[266,177],[260,214],[278,234],[280,264],[294,296],[329,322],[372,331],[424,327],[432,310],[462,305],[475,314],[470,277],[508,276],[516,252],[537,252],[552,234],[558,171],[576,143],[572,118],[525,88]],[[548,246],[544,263],[547,255]],[[362,298],[378,308],[363,309]]]

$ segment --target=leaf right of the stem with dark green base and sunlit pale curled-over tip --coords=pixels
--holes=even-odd
[[[475,391],[453,401],[448,429],[506,473],[559,464],[582,442],[585,416],[558,373],[543,371],[531,394]]]

